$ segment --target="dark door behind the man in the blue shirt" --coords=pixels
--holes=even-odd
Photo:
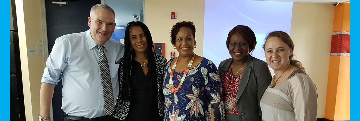
[[[100,3],[100,0],[64,0],[62,2],[67,2],[68,5],[59,6],[51,4],[52,1],[54,0],[45,0],[49,53],[51,53],[56,38],[88,30],[87,18],[90,16],[90,9],[93,5]],[[64,120],[61,109],[62,88],[62,81],[60,81],[54,90],[54,121]]]

